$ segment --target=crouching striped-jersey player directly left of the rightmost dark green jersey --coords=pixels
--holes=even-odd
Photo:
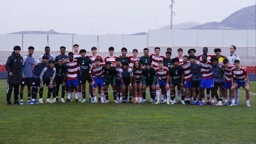
[[[160,93],[159,93],[159,89],[161,89],[161,93],[162,93],[162,99],[161,99],[161,103],[164,103],[164,99],[165,99],[165,92],[167,95],[167,100],[166,103],[167,105],[170,105],[170,85],[169,85],[169,79],[170,79],[170,73],[169,73],[169,69],[164,66],[164,61],[163,60],[159,60],[158,61],[158,68],[156,68],[156,99],[157,101],[155,102],[155,104],[159,104],[160,103]]]

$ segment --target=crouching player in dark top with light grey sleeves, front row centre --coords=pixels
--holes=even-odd
[[[129,88],[129,102],[131,102],[132,100],[132,81],[133,81],[133,73],[132,73],[132,69],[129,68],[129,63],[128,62],[123,62],[122,63],[123,68],[119,70],[119,77],[122,83],[122,95],[123,97],[120,96],[120,100],[119,103],[121,102],[126,102],[128,95],[126,95],[126,89]],[[125,95],[125,101],[123,101]]]

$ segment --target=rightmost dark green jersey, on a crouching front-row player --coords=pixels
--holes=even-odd
[[[184,70],[180,65],[176,68],[170,68],[170,76],[172,78],[172,83],[181,83],[181,75],[184,75]]]

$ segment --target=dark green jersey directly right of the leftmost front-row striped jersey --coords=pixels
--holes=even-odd
[[[77,59],[79,62],[81,75],[82,74],[89,75],[90,64],[92,65],[93,63],[92,60],[88,56],[86,56],[85,58],[77,57],[75,59]]]

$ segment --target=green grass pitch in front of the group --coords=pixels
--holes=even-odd
[[[111,92],[110,103],[7,106],[1,79],[0,143],[256,143],[255,87],[250,108],[244,92],[236,107],[116,104]]]

